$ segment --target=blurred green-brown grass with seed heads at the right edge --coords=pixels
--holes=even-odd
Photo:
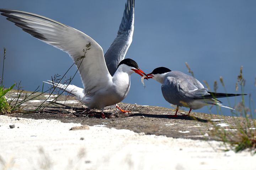
[[[188,63],[185,63],[186,67],[188,68],[189,73],[193,73],[188,66]],[[242,75],[243,67],[240,67],[240,72],[237,77],[237,82],[235,85],[236,91],[238,89],[241,91],[241,94],[244,94],[244,87],[245,87],[245,79]],[[224,80],[220,76],[220,84],[223,86],[225,93],[227,93]],[[209,89],[209,84],[204,81],[207,88]],[[255,86],[256,86],[256,78],[255,78]],[[217,91],[218,85],[217,81],[214,81],[214,92]],[[229,102],[229,100],[228,100]],[[230,102],[229,102],[230,106]],[[208,107],[209,108],[209,107]],[[220,111],[220,107],[217,107],[217,112]],[[209,112],[210,108],[209,108]],[[234,115],[235,125],[230,125],[231,129],[235,131],[226,131],[224,128],[218,127],[215,124],[214,130],[212,131],[212,135],[217,136],[221,141],[223,141],[226,150],[233,150],[235,152],[241,152],[244,150],[250,151],[252,154],[256,154],[256,120],[255,114],[256,109],[254,108],[253,101],[251,99],[251,95],[249,95],[249,107],[245,106],[245,96],[241,95],[241,101],[238,102],[235,106],[235,111],[231,111],[232,115]],[[223,116],[223,119],[225,117]]]

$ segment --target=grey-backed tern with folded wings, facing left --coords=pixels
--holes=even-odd
[[[207,105],[217,105],[234,110],[222,105],[216,98],[246,95],[210,92],[207,88],[204,88],[202,83],[190,75],[180,71],[171,71],[165,67],[155,68],[147,76],[142,77],[142,83],[144,84],[144,78],[152,78],[158,81],[162,84],[161,90],[165,100],[177,106],[175,115],[170,115],[170,117],[177,117],[179,107],[190,108],[187,116],[190,116],[192,109],[200,109]]]

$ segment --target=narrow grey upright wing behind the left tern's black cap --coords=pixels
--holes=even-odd
[[[132,43],[134,29],[134,1],[135,0],[127,0],[117,37],[105,54],[107,68],[112,76],[116,72],[118,64],[124,59],[126,52]]]

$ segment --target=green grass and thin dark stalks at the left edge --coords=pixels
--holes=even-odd
[[[79,57],[72,65],[71,67],[73,67],[74,65],[77,65],[78,69],[81,66],[82,61],[84,60],[84,58],[86,57],[86,53],[88,50],[90,50],[91,47],[91,43],[86,45],[86,49],[83,49],[84,55]],[[6,49],[4,48],[4,61],[6,59]],[[4,63],[4,62],[3,62]],[[66,73],[71,69],[71,67],[66,71]],[[64,84],[69,85],[71,83],[71,81],[73,80],[73,78],[75,77],[76,73],[78,72],[78,69],[76,70],[75,74],[73,77],[70,77],[68,80],[65,80]],[[60,75],[55,75],[52,78],[53,82],[56,82],[57,86],[61,83],[61,81],[64,79],[66,73],[61,77]],[[65,88],[62,89],[62,91],[57,90],[57,86],[54,85],[51,88],[44,90],[44,84],[42,86],[42,90],[39,90],[39,86],[37,87],[36,90],[34,90],[32,93],[30,92],[29,94],[27,94],[24,90],[22,90],[21,87],[21,83],[15,83],[14,85],[12,85],[9,88],[5,88],[3,85],[3,77],[4,77],[4,64],[2,66],[2,78],[0,81],[0,114],[11,114],[11,113],[16,113],[16,112],[22,112],[22,113],[30,113],[30,112],[38,112],[38,111],[42,111],[44,110],[47,106],[49,106],[49,104],[54,104],[57,101],[57,98],[63,94],[63,92],[65,91]],[[15,90],[12,90],[14,87]],[[12,91],[11,91],[12,90]],[[50,100],[50,96],[53,96],[53,92],[57,91],[57,95],[56,97],[54,97],[53,100]],[[7,95],[7,93],[9,92],[9,95]],[[10,95],[10,93],[13,93],[12,96]],[[26,102],[36,99],[37,97],[41,96],[42,94],[49,92],[49,97],[46,100],[43,100],[43,102],[33,111],[31,110],[27,110],[25,111],[23,109],[22,105],[25,105]],[[86,94],[84,96],[84,98],[86,96],[89,96],[90,93]],[[11,97],[10,97],[11,96]],[[47,104],[44,104],[46,103]]]

